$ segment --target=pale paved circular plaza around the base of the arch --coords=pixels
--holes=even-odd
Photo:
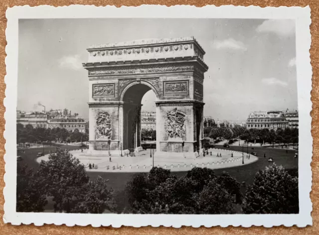
[[[73,156],[77,157],[84,164],[87,171],[90,172],[149,172],[153,165],[170,169],[171,171],[188,171],[193,167],[207,167],[210,169],[230,168],[243,166],[258,160],[254,155],[247,155],[239,151],[229,149],[208,149],[208,154],[201,154],[196,158],[182,157],[150,157],[150,149],[141,151],[135,157],[131,156],[88,156],[86,150],[70,151]],[[218,154],[218,157],[217,157]],[[47,160],[48,154],[36,159],[37,162]],[[110,161],[111,157],[111,161]],[[154,160],[154,162],[153,162]],[[89,168],[89,164],[93,166]]]

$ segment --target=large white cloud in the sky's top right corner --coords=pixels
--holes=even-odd
[[[267,19],[256,28],[257,32],[273,32],[280,36],[290,36],[295,33],[295,20]]]

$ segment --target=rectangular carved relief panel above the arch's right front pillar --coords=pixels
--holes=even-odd
[[[188,80],[164,81],[163,93],[164,93],[164,96],[188,95],[189,81]]]

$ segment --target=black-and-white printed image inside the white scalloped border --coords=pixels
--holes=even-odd
[[[296,25],[19,18],[14,211],[299,215]]]

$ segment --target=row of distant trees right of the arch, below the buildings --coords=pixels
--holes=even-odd
[[[298,143],[298,129],[297,128],[278,128],[274,129],[246,129],[242,126],[235,127],[204,127],[204,135],[212,139],[237,139],[257,142],[269,143]]]

